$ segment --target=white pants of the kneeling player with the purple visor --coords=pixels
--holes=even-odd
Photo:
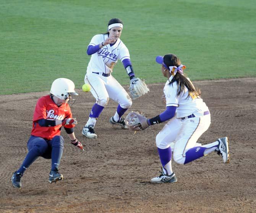
[[[210,124],[211,115],[183,120],[173,117],[157,134],[156,146],[165,149],[174,142],[173,160],[178,164],[184,164],[186,151],[198,146],[197,140],[209,128]]]

